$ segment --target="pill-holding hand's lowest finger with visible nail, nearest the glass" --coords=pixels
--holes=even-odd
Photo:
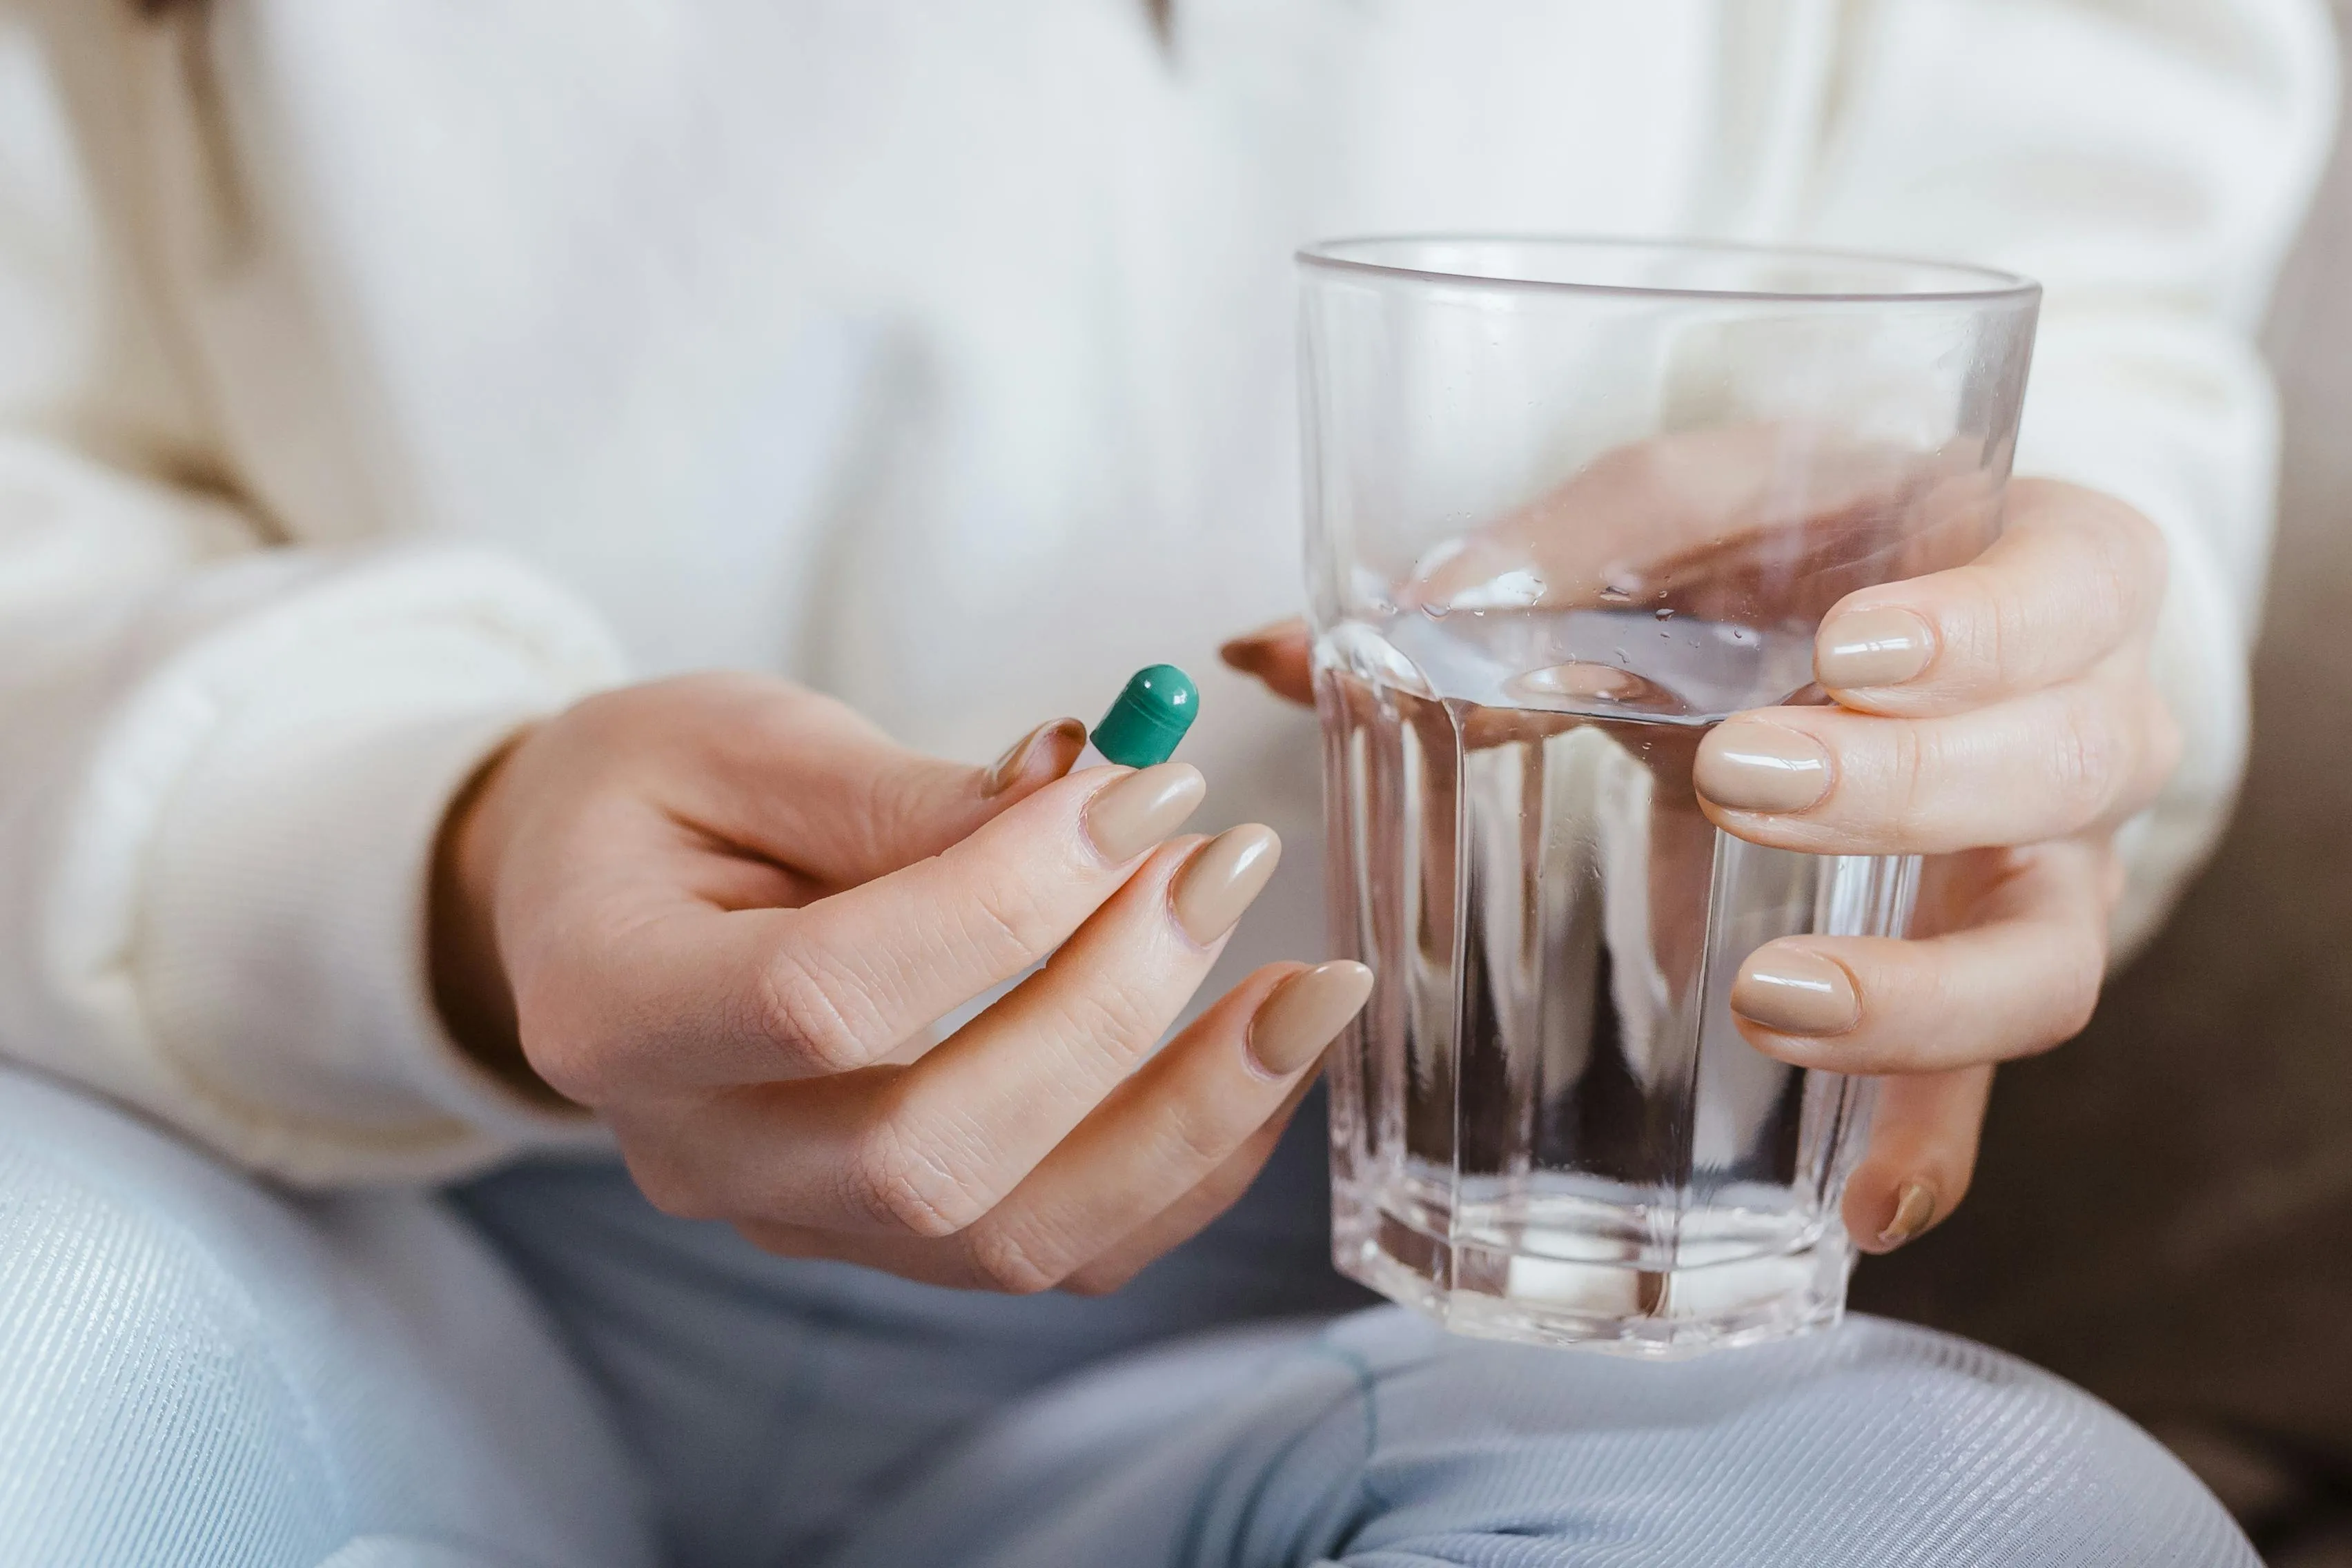
[[[960,1234],[882,1246],[844,1234],[767,1241],[960,1288],[1115,1288],[1247,1190],[1312,1084],[1322,1048],[1369,992],[1362,964],[1256,971]]]

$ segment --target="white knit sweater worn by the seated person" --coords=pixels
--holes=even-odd
[[[2023,473],[2164,524],[2246,745],[2249,331],[2314,0],[0,0],[0,1051],[296,1182],[579,1138],[423,983],[449,792],[607,682],[762,665],[983,759],[1204,675],[1232,964],[1315,952],[1289,252],[1790,237],[2049,284]]]

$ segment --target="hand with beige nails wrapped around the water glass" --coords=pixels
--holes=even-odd
[[[1759,1051],[1884,1074],[1846,1227],[1891,1251],[1966,1194],[1994,1063],[2077,1034],[2122,891],[2114,830],[2154,799],[2180,729],[2150,677],[2164,541],[2129,505],[2009,487],[2006,531],[1950,571],[1846,595],[1820,623],[1828,708],[1764,708],[1698,750],[1708,816],[1743,839],[1931,856],[1912,936],[1799,936],[1740,966]],[[1312,701],[1298,625],[1225,646]]]

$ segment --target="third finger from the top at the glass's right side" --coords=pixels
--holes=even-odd
[[[1731,983],[1759,1051],[1832,1072],[1943,1072],[2046,1051],[2082,1032],[2107,959],[2103,853],[2044,844],[2004,856],[1947,936],[1795,936]]]

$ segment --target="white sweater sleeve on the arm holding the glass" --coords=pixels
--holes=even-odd
[[[2277,470],[2253,339],[2331,141],[2326,7],[1863,0],[1837,16],[1783,233],[2037,277],[2016,468],[2114,494],[2169,541],[2154,663],[2187,750],[2122,837],[2129,952],[2211,851],[2246,762]]]

